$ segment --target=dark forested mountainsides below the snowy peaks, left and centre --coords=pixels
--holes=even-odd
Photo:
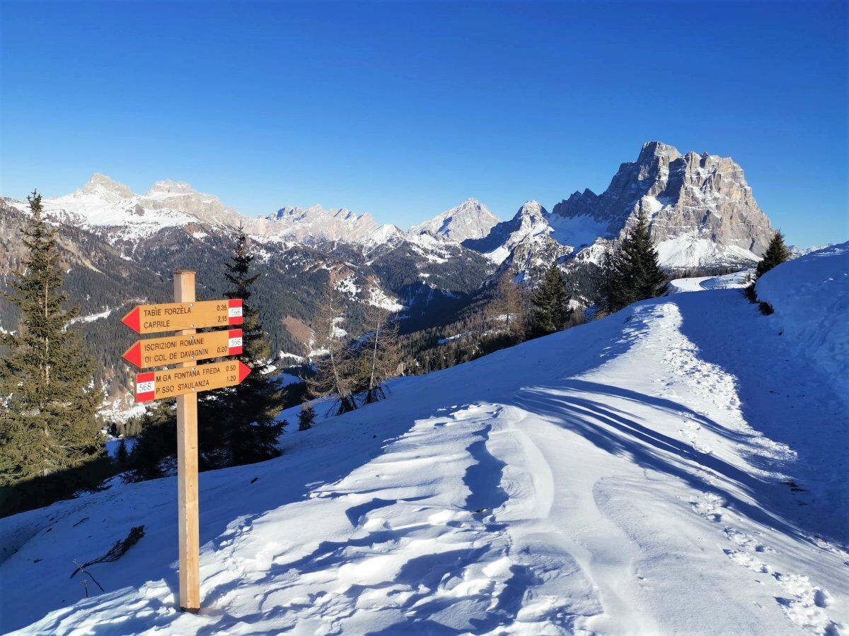
[[[25,212],[0,201],[3,284],[10,271],[20,268],[20,228],[25,218]],[[132,343],[132,333],[121,325],[121,317],[134,304],[170,300],[171,273],[179,269],[198,272],[198,298],[221,297],[224,263],[235,232],[200,221],[162,227],[132,239],[107,228],[83,229],[64,222],[58,228],[65,291],[71,304],[80,305],[87,349],[98,363],[96,381],[104,382],[113,395],[122,395],[132,370],[121,361],[121,353]],[[443,252],[432,259],[422,258],[416,247],[403,242],[371,248],[348,243],[252,242],[261,275],[254,302],[274,357],[309,354],[312,321],[327,293],[331,271],[336,280],[350,282],[346,285],[351,300],[349,325],[356,333],[364,329],[363,310],[372,300],[369,281],[382,291],[385,300],[381,302],[397,298],[405,306],[402,328],[412,332],[450,321],[493,270],[481,255],[455,244],[438,246]],[[0,298],[0,327],[14,330],[16,321],[14,307]]]

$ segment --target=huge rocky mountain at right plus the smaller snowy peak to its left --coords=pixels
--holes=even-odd
[[[620,166],[600,195],[575,192],[551,213],[520,210],[464,245],[502,263],[528,237],[548,235],[577,263],[597,262],[604,246],[624,237],[641,211],[649,216],[661,264],[672,269],[751,265],[773,232],[733,159],[682,154],[649,142],[636,161]],[[532,248],[523,245],[521,251],[526,255]]]

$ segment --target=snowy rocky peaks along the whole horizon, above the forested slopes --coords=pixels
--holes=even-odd
[[[13,204],[25,209],[24,202]],[[144,194],[133,194],[99,174],[76,192],[46,199],[44,204],[58,220],[108,228],[112,240],[132,242],[163,227],[199,222],[242,225],[257,237],[312,245],[420,243],[415,237],[428,234],[484,254],[495,265],[509,259],[517,273],[527,263],[552,255],[597,260],[607,243],[633,226],[640,211],[649,215],[661,261],[670,268],[751,265],[772,233],[734,160],[708,153],[682,154],[661,142],[644,144],[637,160],[622,164],[601,194],[574,192],[550,212],[537,201],[528,201],[505,221],[469,198],[408,232],[379,226],[368,213],[320,205],[284,206],[266,217],[247,217],[183,181],[157,181]]]

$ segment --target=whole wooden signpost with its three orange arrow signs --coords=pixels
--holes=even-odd
[[[242,330],[197,333],[207,327],[242,324],[241,300],[194,298],[194,271],[174,272],[174,302],[139,305],[121,322],[137,333],[176,331],[176,336],[138,340],[123,358],[141,369],[177,365],[136,375],[136,402],[177,398],[177,526],[180,608],[200,610],[198,520],[198,392],[233,387],[250,373],[241,360],[196,364],[242,354]]]

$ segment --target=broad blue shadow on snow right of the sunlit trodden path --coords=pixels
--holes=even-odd
[[[680,331],[699,358],[734,376],[750,427],[796,454],[774,459],[751,449],[751,463],[792,477],[776,474],[762,484],[758,500],[807,533],[849,541],[849,414],[828,378],[736,290],[711,292],[710,304],[701,293],[681,296],[694,297],[678,298],[678,307]]]

